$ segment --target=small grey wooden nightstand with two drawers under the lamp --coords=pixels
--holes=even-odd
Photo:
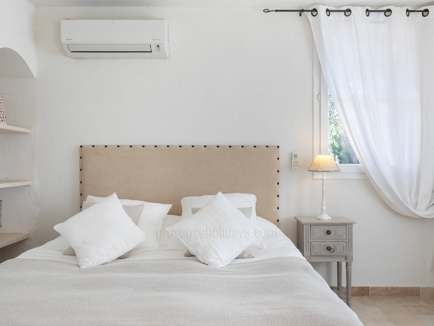
[[[336,294],[351,308],[352,225],[343,216],[331,220],[317,220],[315,216],[295,216],[297,220],[297,248],[308,262],[337,262],[338,289]],[[347,296],[342,289],[342,262],[347,271]]]

